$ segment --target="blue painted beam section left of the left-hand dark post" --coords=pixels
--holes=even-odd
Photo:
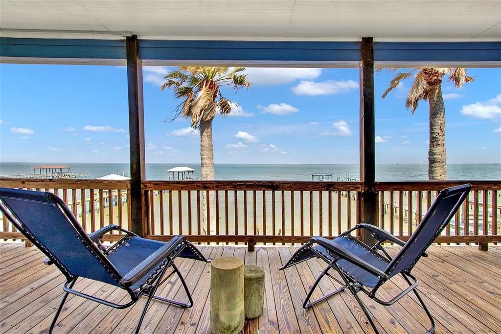
[[[125,40],[0,38],[0,56],[12,58],[125,59]]]

